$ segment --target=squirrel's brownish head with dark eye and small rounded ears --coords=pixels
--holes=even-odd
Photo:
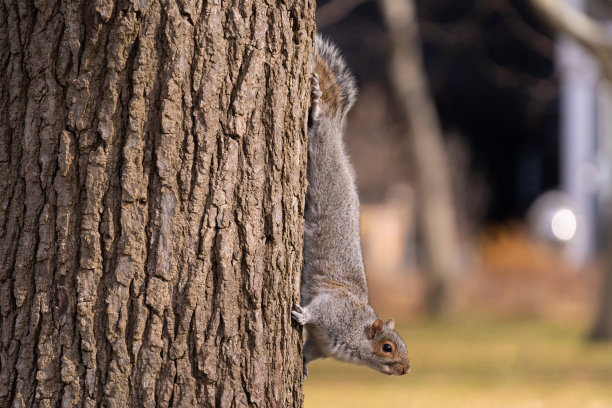
[[[383,323],[381,319],[366,327],[366,336],[372,347],[371,368],[388,375],[404,375],[410,371],[408,351],[402,338],[394,330],[395,320]]]

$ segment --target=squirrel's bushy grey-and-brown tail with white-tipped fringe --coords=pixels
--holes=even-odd
[[[342,122],[357,98],[355,78],[334,44],[315,37],[314,72],[319,76],[321,110]]]

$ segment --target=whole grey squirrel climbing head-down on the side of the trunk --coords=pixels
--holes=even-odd
[[[317,358],[366,365],[389,375],[410,370],[395,321],[378,318],[368,298],[359,237],[359,197],[342,140],[357,87],[337,48],[315,36],[308,118],[301,304],[306,365]]]

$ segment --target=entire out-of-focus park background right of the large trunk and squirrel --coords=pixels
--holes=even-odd
[[[305,406],[612,407],[612,1],[317,4],[412,371],[315,361]]]

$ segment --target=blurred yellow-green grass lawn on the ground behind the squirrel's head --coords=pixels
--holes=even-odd
[[[584,333],[578,323],[509,319],[405,325],[408,375],[315,361],[305,407],[610,408],[612,344]]]

